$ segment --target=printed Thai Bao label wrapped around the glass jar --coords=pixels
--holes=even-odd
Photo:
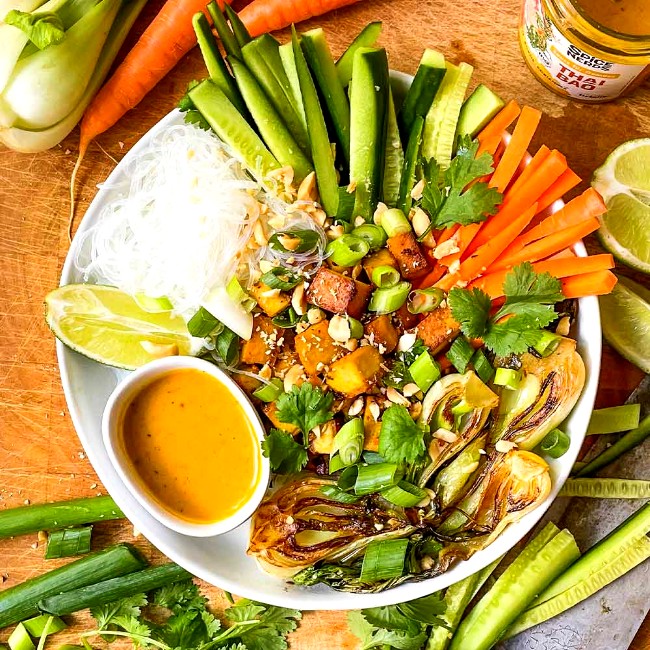
[[[568,97],[585,102],[615,99],[645,65],[624,65],[585,52],[560,32],[542,0],[524,0],[521,40],[528,63]]]

